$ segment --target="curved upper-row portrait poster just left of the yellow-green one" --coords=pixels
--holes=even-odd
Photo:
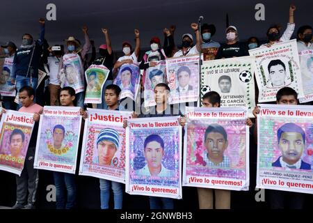
[[[63,86],[72,87],[75,93],[85,91],[83,63],[78,54],[65,54],[63,56],[63,67],[60,74]]]

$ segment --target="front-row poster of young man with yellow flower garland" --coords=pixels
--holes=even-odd
[[[45,106],[40,116],[34,168],[75,174],[80,107]]]

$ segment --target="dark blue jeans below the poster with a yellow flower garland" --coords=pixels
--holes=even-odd
[[[74,208],[76,200],[76,184],[74,177],[74,174],[54,172],[54,184],[56,185],[56,209]],[[66,202],[65,189],[67,190]]]

